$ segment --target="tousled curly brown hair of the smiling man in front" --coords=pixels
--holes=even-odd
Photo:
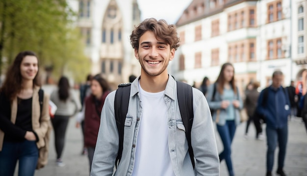
[[[157,21],[154,18],[145,19],[137,27],[134,26],[134,30],[130,35],[130,43],[133,49],[139,49],[139,40],[141,36],[148,30],[153,31],[157,39],[164,40],[170,45],[171,49],[177,50],[180,46],[179,37],[176,31],[175,25],[168,25],[165,20]]]

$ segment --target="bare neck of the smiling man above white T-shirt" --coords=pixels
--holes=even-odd
[[[160,92],[165,90],[168,81],[168,74],[160,74],[159,76],[149,76],[142,74],[140,77],[140,86],[147,92]]]

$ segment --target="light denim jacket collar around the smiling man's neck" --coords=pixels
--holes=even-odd
[[[138,81],[141,76],[138,76],[132,83],[131,83],[131,90],[130,90],[130,97],[134,96],[139,92],[139,87],[138,87]],[[176,81],[175,79],[169,75],[168,81],[166,84],[166,88],[164,91],[164,95],[170,97],[171,99],[175,100],[176,97],[176,91],[174,91],[176,88]]]

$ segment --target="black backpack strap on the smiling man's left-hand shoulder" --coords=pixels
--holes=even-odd
[[[120,84],[115,93],[114,113],[115,113],[116,126],[119,135],[119,147],[118,147],[117,157],[115,160],[116,168],[119,162],[121,161],[123,153],[125,119],[129,106],[130,88],[131,88],[130,83]]]

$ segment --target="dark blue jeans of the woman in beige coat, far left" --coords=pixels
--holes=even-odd
[[[38,160],[35,141],[4,142],[0,151],[0,176],[13,176],[19,160],[18,176],[34,176]]]

